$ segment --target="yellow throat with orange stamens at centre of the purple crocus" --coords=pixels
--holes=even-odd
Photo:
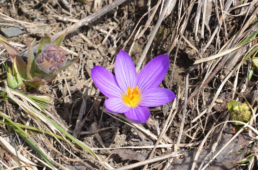
[[[124,94],[122,96],[122,99],[125,102],[125,104],[127,104],[130,107],[138,106],[138,104],[140,102],[140,95],[139,95],[138,87],[136,86],[131,91],[131,87],[129,86],[127,95]]]

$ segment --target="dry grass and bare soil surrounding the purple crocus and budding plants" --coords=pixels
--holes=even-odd
[[[258,1],[0,1],[0,29],[28,62],[39,40],[55,40],[78,60],[40,90],[6,82],[8,51],[0,46],[1,169],[257,169]],[[159,87],[173,102],[150,107],[136,124],[104,108],[91,69],[114,73],[120,49],[139,73],[169,55]],[[61,50],[61,49],[60,49]],[[62,51],[62,50],[61,50]],[[116,74],[116,73],[115,73]],[[134,87],[133,87],[134,88]],[[227,101],[249,106],[249,121],[230,120]],[[249,118],[249,117],[248,117]],[[238,119],[240,120],[240,119]],[[235,124],[243,124],[236,129]]]

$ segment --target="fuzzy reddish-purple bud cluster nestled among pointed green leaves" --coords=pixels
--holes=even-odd
[[[54,44],[45,44],[37,57],[38,66],[46,73],[54,73],[68,60],[68,52]]]

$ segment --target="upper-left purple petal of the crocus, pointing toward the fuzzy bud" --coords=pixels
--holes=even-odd
[[[110,97],[120,97],[122,90],[119,88],[116,77],[106,68],[95,66],[91,69],[91,77],[95,85],[103,93]]]

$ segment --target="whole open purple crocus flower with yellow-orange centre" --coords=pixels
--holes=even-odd
[[[176,95],[169,89],[158,87],[169,68],[169,56],[152,59],[137,75],[133,60],[120,50],[115,61],[114,76],[106,68],[95,66],[91,70],[93,82],[108,97],[105,107],[110,112],[124,113],[135,123],[150,118],[148,107],[171,102]]]

